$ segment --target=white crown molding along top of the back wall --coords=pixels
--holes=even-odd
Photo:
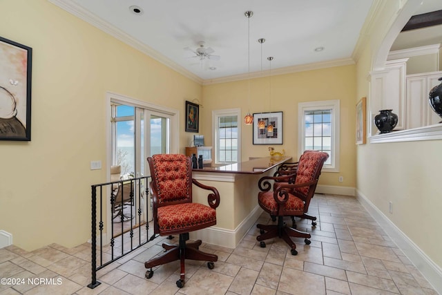
[[[307,70],[319,70],[321,68],[334,68],[335,66],[349,66],[355,64],[351,58],[346,59],[334,59],[330,61],[321,61],[313,64],[301,64],[298,66],[287,66],[285,68],[276,68],[271,70],[271,75],[285,75],[291,73],[305,72]],[[217,79],[206,79],[202,82],[202,85],[220,84],[227,82],[236,82],[247,79],[254,79],[259,77],[268,77],[268,71],[259,71],[253,73],[246,73],[240,75],[232,75],[227,77],[221,77]]]

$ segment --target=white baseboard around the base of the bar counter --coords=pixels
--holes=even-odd
[[[208,227],[206,229],[200,229],[199,231],[192,231],[190,237],[194,240],[202,240],[208,244],[234,249],[255,224],[256,220],[258,220],[261,213],[261,207],[256,206],[247,218],[244,218],[240,225],[234,230]]]

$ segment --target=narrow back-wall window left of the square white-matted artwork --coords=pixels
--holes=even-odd
[[[240,113],[239,108],[212,112],[216,164],[241,162]]]

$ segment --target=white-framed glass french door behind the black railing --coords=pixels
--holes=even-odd
[[[154,106],[115,94],[108,95],[108,103],[111,122],[108,127],[110,133],[108,137],[109,171],[113,165],[121,166],[122,180],[148,176],[150,171],[146,159],[149,156],[157,153],[177,153],[177,126],[179,126],[177,123],[179,112],[177,110]],[[108,173],[108,179],[110,179],[110,172]],[[133,210],[134,216],[138,209],[142,209],[140,222],[138,222],[139,220],[136,224],[132,222],[133,226],[148,222],[152,218],[151,198],[144,196],[147,186],[148,184],[143,184],[141,201],[135,200],[133,207],[129,206],[129,209],[126,207],[126,210]],[[134,196],[138,196],[137,189],[135,186]],[[147,212],[145,212],[146,202],[148,204]],[[126,213],[130,213],[130,211]],[[111,232],[111,226],[114,227],[114,232],[120,234],[121,230],[115,230],[115,227],[123,226],[124,231],[130,229],[131,222],[123,222],[123,225],[121,225],[122,222],[114,222],[111,209],[108,211],[108,216],[112,216],[108,218],[108,232]],[[126,229],[126,227],[128,228]]]

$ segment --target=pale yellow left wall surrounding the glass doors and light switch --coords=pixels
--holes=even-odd
[[[201,86],[48,1],[1,11],[0,36],[33,55],[32,141],[0,142],[0,229],[27,250],[73,247],[90,238],[90,185],[106,181],[106,91],[183,112]]]

